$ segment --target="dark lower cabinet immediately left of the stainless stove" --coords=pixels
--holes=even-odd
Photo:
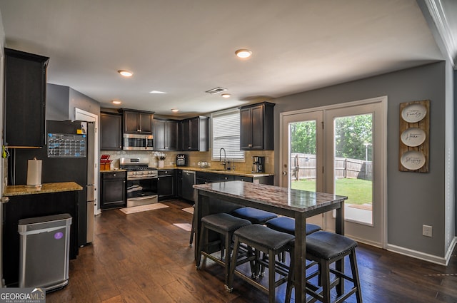
[[[126,172],[101,173],[101,210],[126,207],[126,178]]]

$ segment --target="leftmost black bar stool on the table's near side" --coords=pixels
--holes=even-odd
[[[251,222],[248,220],[244,220],[238,217],[234,217],[232,215],[226,214],[224,212],[214,214],[214,215],[207,215],[201,218],[201,232],[200,232],[200,241],[199,247],[197,249],[196,254],[196,267],[197,269],[200,268],[201,262],[201,255],[208,257],[209,259],[213,260],[214,262],[218,263],[219,265],[224,266],[225,269],[225,283],[227,283],[229,279],[229,269],[230,269],[230,256],[231,256],[231,242],[233,238],[233,232],[238,230],[240,227],[244,227],[246,225],[251,225]],[[224,237],[224,242],[221,240],[215,240],[213,242],[209,242],[209,230],[213,230]],[[214,255],[211,255],[211,252],[206,252],[209,247],[214,245],[221,246],[221,258],[217,258]],[[225,250],[225,261],[223,260],[224,257],[224,250]]]

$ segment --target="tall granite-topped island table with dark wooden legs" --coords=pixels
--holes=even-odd
[[[292,190],[272,185],[230,181],[224,183],[209,183],[194,185],[197,190],[196,200],[196,243],[199,243],[201,217],[221,212],[220,203],[230,202],[242,206],[255,207],[260,210],[274,212],[295,218],[295,302],[306,302],[306,218],[323,212],[336,210],[336,233],[344,235],[344,200],[347,197],[323,192],[308,192]],[[196,250],[198,245],[196,245]],[[343,263],[337,262],[336,268],[343,269]],[[338,285],[338,292],[343,287]],[[270,298],[274,299],[274,298]]]

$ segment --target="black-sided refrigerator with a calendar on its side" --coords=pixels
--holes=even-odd
[[[41,182],[74,181],[82,186],[79,194],[78,245],[94,239],[94,123],[84,121],[46,121],[47,144],[38,149],[14,150],[9,159],[9,184],[26,184],[29,159],[41,159]]]

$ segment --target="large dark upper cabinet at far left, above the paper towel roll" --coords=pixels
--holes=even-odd
[[[48,61],[48,57],[5,48],[5,144],[10,148],[45,144]]]

